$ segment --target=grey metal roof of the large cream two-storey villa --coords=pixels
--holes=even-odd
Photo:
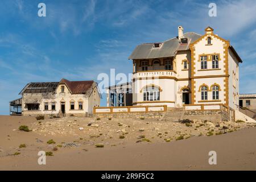
[[[180,44],[180,40],[177,37],[160,43],[162,45],[159,48],[154,48],[155,43],[141,44],[134,49],[129,59],[154,59],[175,56],[176,51],[188,50],[189,44],[195,42],[201,35],[195,32],[187,32],[183,36],[188,39],[187,44]]]

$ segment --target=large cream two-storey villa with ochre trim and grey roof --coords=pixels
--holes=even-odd
[[[141,44],[129,59],[133,60],[134,106],[205,105],[207,109],[208,105],[223,104],[237,109],[242,60],[229,41],[214,34],[211,27],[200,35],[183,33],[179,26],[178,36]],[[110,95],[108,102],[112,102]]]

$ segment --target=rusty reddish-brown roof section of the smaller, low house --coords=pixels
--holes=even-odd
[[[61,83],[67,84],[68,88],[71,90],[72,94],[80,94],[86,93],[90,87],[93,85],[93,80],[89,81],[69,81],[67,79],[62,78],[60,80]]]

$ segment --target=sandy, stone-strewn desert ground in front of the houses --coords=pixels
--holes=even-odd
[[[19,131],[20,125],[32,131]],[[255,170],[254,125],[197,120],[186,126],[155,119],[76,117],[36,121],[0,116],[0,169]],[[228,133],[216,135],[223,126]],[[184,139],[176,140],[181,136]],[[48,144],[49,139],[55,143]],[[20,144],[26,147],[19,148]],[[39,151],[53,152],[46,157],[46,165],[38,164]],[[209,165],[209,151],[217,152],[217,165]]]

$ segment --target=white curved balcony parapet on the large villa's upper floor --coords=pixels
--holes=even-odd
[[[171,70],[150,70],[137,71],[133,73],[133,78],[159,78],[159,77],[176,77],[176,72]]]

